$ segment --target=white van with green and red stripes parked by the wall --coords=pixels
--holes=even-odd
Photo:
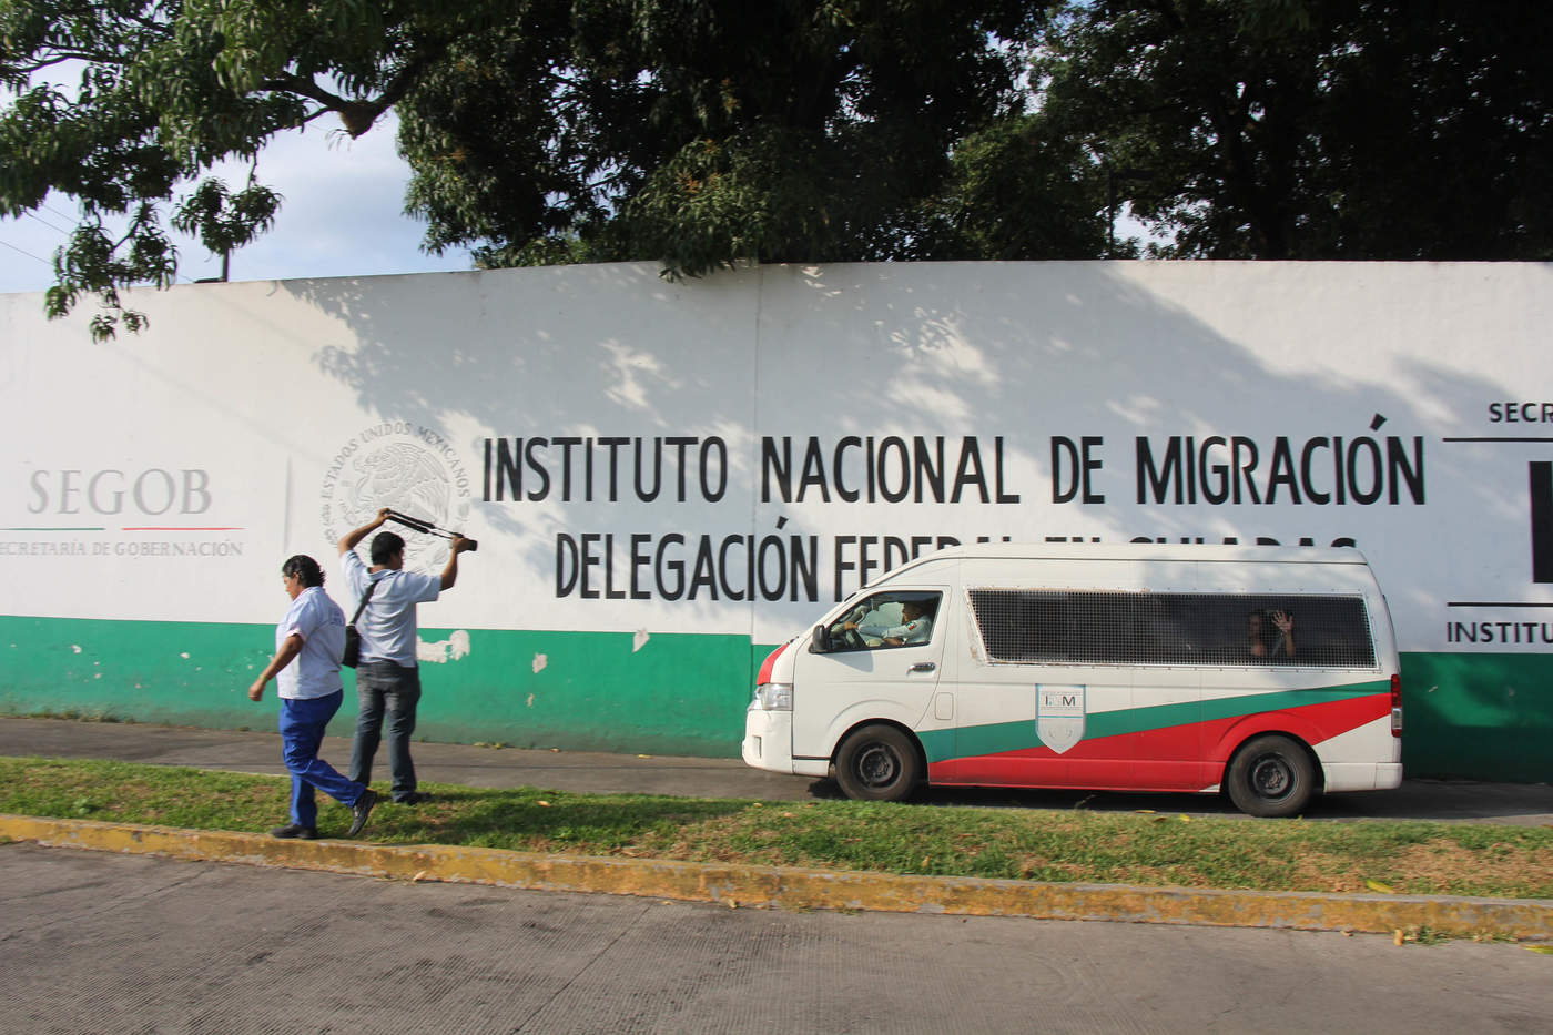
[[[1391,617],[1351,549],[985,544],[904,564],[761,665],[744,761],[856,799],[1402,782]]]

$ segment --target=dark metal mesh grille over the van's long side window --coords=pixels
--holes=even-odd
[[[1360,597],[1044,589],[969,594],[992,660],[1374,668],[1374,642]]]

